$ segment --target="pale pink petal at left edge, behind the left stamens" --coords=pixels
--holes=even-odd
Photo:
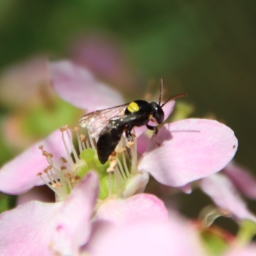
[[[53,159],[56,161],[59,161],[61,156],[67,158],[61,132],[55,131],[9,163],[4,164],[0,170],[0,191],[10,195],[18,195],[28,191],[33,186],[44,184],[37,173],[43,172],[49,164],[38,148],[40,145],[44,145],[44,150],[53,154]]]

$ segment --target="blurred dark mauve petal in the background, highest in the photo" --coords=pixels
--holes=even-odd
[[[102,36],[102,33],[88,34],[76,40],[70,53],[76,63],[81,63],[97,76],[120,84],[122,91],[135,88],[124,52],[113,37]]]

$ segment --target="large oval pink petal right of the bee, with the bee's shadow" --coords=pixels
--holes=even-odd
[[[217,121],[181,120],[152,136],[138,169],[162,184],[184,186],[220,171],[234,157],[237,143],[234,132]]]

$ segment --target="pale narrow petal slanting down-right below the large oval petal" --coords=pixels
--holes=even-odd
[[[245,202],[227,177],[218,173],[200,180],[200,187],[221,209],[230,211],[239,220],[252,220],[256,217],[247,209]]]

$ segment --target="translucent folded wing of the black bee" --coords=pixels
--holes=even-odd
[[[88,113],[79,120],[79,124],[81,127],[89,129],[92,138],[95,138],[109,124],[109,119],[124,115],[124,111],[128,105],[129,103]]]

